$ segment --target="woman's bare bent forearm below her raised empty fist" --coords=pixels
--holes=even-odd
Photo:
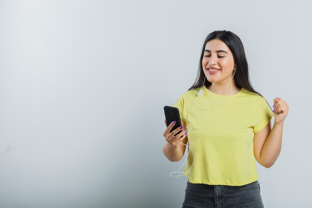
[[[284,123],[274,123],[273,128],[261,150],[261,165],[270,168],[280,155]]]

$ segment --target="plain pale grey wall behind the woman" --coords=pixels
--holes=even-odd
[[[0,207],[181,207],[163,106],[219,29],[290,106],[280,157],[257,164],[265,207],[311,207],[311,22],[308,0],[0,0]]]

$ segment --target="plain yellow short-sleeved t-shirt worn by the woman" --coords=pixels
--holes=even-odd
[[[184,92],[173,104],[187,118],[188,145],[194,152],[190,183],[242,186],[258,180],[254,133],[265,127],[273,113],[266,100],[242,88],[235,95],[218,95],[206,87]],[[192,165],[190,154],[184,172]]]

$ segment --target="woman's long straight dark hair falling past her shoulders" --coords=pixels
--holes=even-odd
[[[256,93],[256,94],[260,95],[261,97],[263,97],[259,92],[257,92],[252,87],[252,85],[250,83],[247,58],[246,58],[244,46],[243,46],[241,39],[236,34],[234,34],[233,32],[226,31],[226,30],[215,30],[206,36],[206,38],[203,42],[203,45],[202,45],[202,50],[201,50],[201,55],[200,55],[200,59],[199,59],[196,80],[195,80],[194,84],[188,90],[201,87],[203,85],[203,83],[204,83],[206,88],[208,88],[211,85],[211,82],[209,82],[207,79],[204,80],[206,78],[206,76],[205,76],[203,68],[202,68],[202,59],[204,56],[204,50],[206,47],[206,43],[209,42],[210,40],[213,40],[213,39],[219,39],[222,42],[224,42],[233,54],[234,64],[236,65],[236,72],[234,75],[235,85],[238,88],[245,88],[248,91]],[[271,110],[272,110],[272,108],[271,108]]]

